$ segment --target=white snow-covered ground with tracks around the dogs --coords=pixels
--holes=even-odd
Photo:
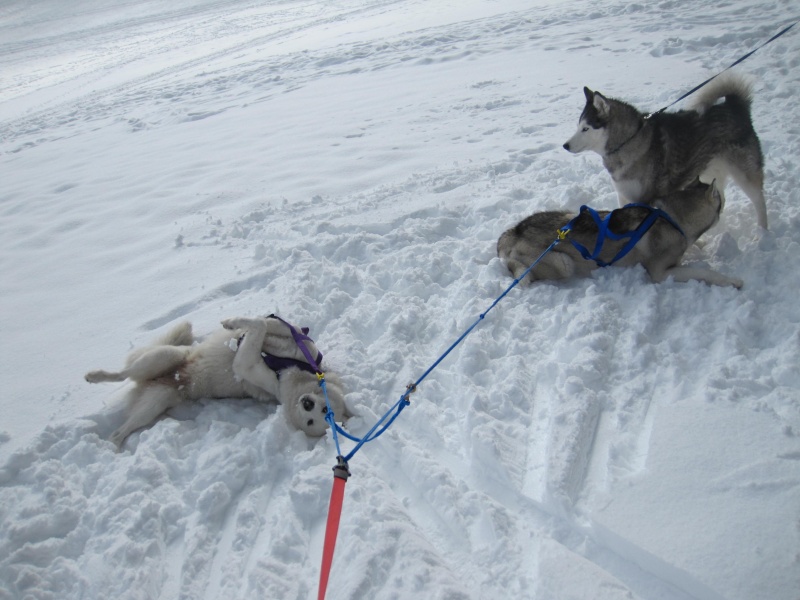
[[[510,283],[530,212],[616,205],[583,85],[656,109],[788,0],[0,6],[0,599],[316,597],[332,439],[209,401],[106,441],[184,319],[311,328],[363,434]],[[517,288],[351,461],[328,598],[800,597],[800,31],[760,50],[770,230]],[[345,444],[347,447],[347,444]]]

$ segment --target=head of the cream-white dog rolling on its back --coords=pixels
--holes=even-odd
[[[292,367],[281,373],[279,385],[280,400],[292,425],[312,437],[324,435],[328,428],[325,420],[328,407],[317,375]],[[343,423],[352,417],[344,402],[344,390],[339,378],[327,373],[325,387],[335,419]]]

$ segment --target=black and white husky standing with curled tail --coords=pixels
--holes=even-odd
[[[724,193],[730,177],[755,206],[759,226],[767,228],[764,157],[750,117],[752,91],[743,78],[719,76],[702,88],[691,110],[652,116],[589,88],[583,92],[578,131],[564,148],[603,158],[620,205],[649,203],[698,176],[716,180]]]

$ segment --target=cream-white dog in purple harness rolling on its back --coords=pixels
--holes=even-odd
[[[277,399],[296,428],[314,437],[325,433],[327,406],[322,388],[288,325],[259,317],[226,319],[222,326],[198,341],[191,324],[181,323],[152,346],[131,352],[121,371],[86,374],[89,383],[134,382],[125,398],[126,420],[110,438],[117,447],[168,409],[200,398]],[[312,356],[321,357],[313,342],[309,340],[306,346]],[[264,355],[279,357],[284,364],[270,368]],[[291,366],[286,366],[286,359]],[[325,381],[334,415],[346,420],[352,415],[341,381],[333,373],[326,373]]]

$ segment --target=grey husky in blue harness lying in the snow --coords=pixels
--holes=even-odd
[[[680,264],[687,248],[719,219],[724,198],[714,182],[706,185],[698,180],[687,189],[654,200],[649,205],[663,210],[675,224],[666,218],[656,219],[633,249],[615,264],[623,267],[641,264],[655,282],[673,277],[676,281],[696,279],[712,285],[742,286],[740,279],[727,277],[711,269]],[[650,213],[648,206],[618,208],[611,212],[609,230],[618,235],[634,231]],[[598,211],[598,214],[605,217],[609,211]],[[595,247],[599,227],[585,212],[581,212],[580,216],[566,211],[534,213],[500,236],[497,255],[514,277],[520,277],[556,239],[558,231],[576,216],[578,218],[566,239],[548,252],[526,279],[587,277],[598,265],[593,260],[584,259],[571,243],[574,240],[586,248]],[[625,244],[625,240],[606,239],[599,259],[612,262]]]

